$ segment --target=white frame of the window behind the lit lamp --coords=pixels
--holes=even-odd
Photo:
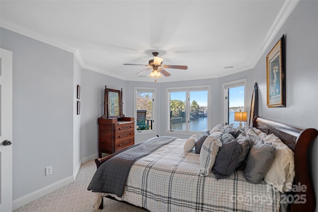
[[[226,93],[226,89],[233,88],[233,87],[239,87],[239,86],[244,86],[244,109],[247,112],[247,117],[248,117],[248,111],[247,111],[247,104],[246,104],[246,90],[247,90],[247,84],[246,84],[246,78],[230,81],[230,82],[224,82],[222,83],[222,108],[223,108],[223,116],[222,116],[222,123],[226,123],[229,120],[229,111],[228,111],[228,102],[226,99],[226,96],[228,94]],[[229,97],[229,96],[228,96]],[[228,113],[227,113],[228,112]],[[243,122],[245,123],[245,122]]]

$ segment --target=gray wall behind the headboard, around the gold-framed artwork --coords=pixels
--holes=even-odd
[[[254,68],[259,84],[259,113],[300,128],[318,129],[318,1],[299,1]],[[286,107],[266,106],[266,55],[285,34]],[[311,156],[318,202],[318,139]],[[317,211],[317,207],[316,207]]]

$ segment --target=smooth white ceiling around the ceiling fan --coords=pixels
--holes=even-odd
[[[158,82],[251,69],[297,0],[1,0],[1,27],[74,52],[80,65],[124,80],[159,52]],[[264,62],[265,63],[265,62]],[[224,69],[233,66],[233,69]],[[143,74],[147,76],[150,73]]]

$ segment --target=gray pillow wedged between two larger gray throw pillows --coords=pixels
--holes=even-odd
[[[252,146],[252,140],[244,133],[239,134],[237,141],[239,143],[239,161],[236,170],[243,170],[244,163],[248,157],[249,150]]]

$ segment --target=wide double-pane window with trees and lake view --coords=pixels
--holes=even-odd
[[[211,123],[209,91],[210,86],[167,88],[168,131],[207,131]]]

